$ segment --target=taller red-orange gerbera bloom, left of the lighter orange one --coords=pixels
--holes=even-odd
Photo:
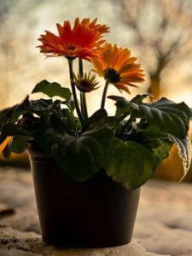
[[[96,20],[79,18],[74,21],[73,28],[68,20],[63,26],[56,24],[59,36],[45,31],[45,35],[38,38],[42,45],[38,45],[42,53],[47,56],[64,55],[67,58],[82,58],[90,60],[96,55],[96,49],[105,42],[102,34],[108,32],[108,26],[96,24]]]

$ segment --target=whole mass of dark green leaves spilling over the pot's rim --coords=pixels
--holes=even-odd
[[[136,189],[153,176],[172,143],[177,144],[184,174],[191,160],[188,137],[191,109],[166,98],[144,103],[148,95],[131,101],[110,96],[116,113],[101,108],[80,124],[74,116],[71,91],[43,80],[32,93],[43,92],[49,100],[24,102],[0,112],[0,143],[11,137],[3,156],[21,153],[36,142],[69,177],[82,182],[104,169],[127,189]],[[60,96],[63,100],[53,100]]]

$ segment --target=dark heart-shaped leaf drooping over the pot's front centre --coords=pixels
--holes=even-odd
[[[78,138],[66,134],[52,146],[53,156],[69,177],[82,182],[105,165],[112,137],[107,128],[84,132]]]

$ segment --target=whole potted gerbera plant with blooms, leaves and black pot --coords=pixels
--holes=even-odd
[[[108,115],[109,84],[130,93],[144,81],[140,64],[130,50],[106,43],[108,26],[96,20],[77,18],[73,27],[69,21],[56,26],[59,34],[46,31],[38,48],[48,57],[66,57],[72,92],[43,80],[32,93],[49,99],[27,96],[3,109],[0,143],[10,137],[3,155],[27,149],[44,241],[66,247],[122,245],[131,241],[140,187],[173,143],[183,160],[183,176],[188,172],[191,109],[165,97],[146,102],[148,94],[131,100],[108,96],[116,105],[115,114]],[[92,65],[89,73],[84,73],[84,60]],[[89,115],[85,97],[99,86],[96,74],[105,85],[101,108]]]

